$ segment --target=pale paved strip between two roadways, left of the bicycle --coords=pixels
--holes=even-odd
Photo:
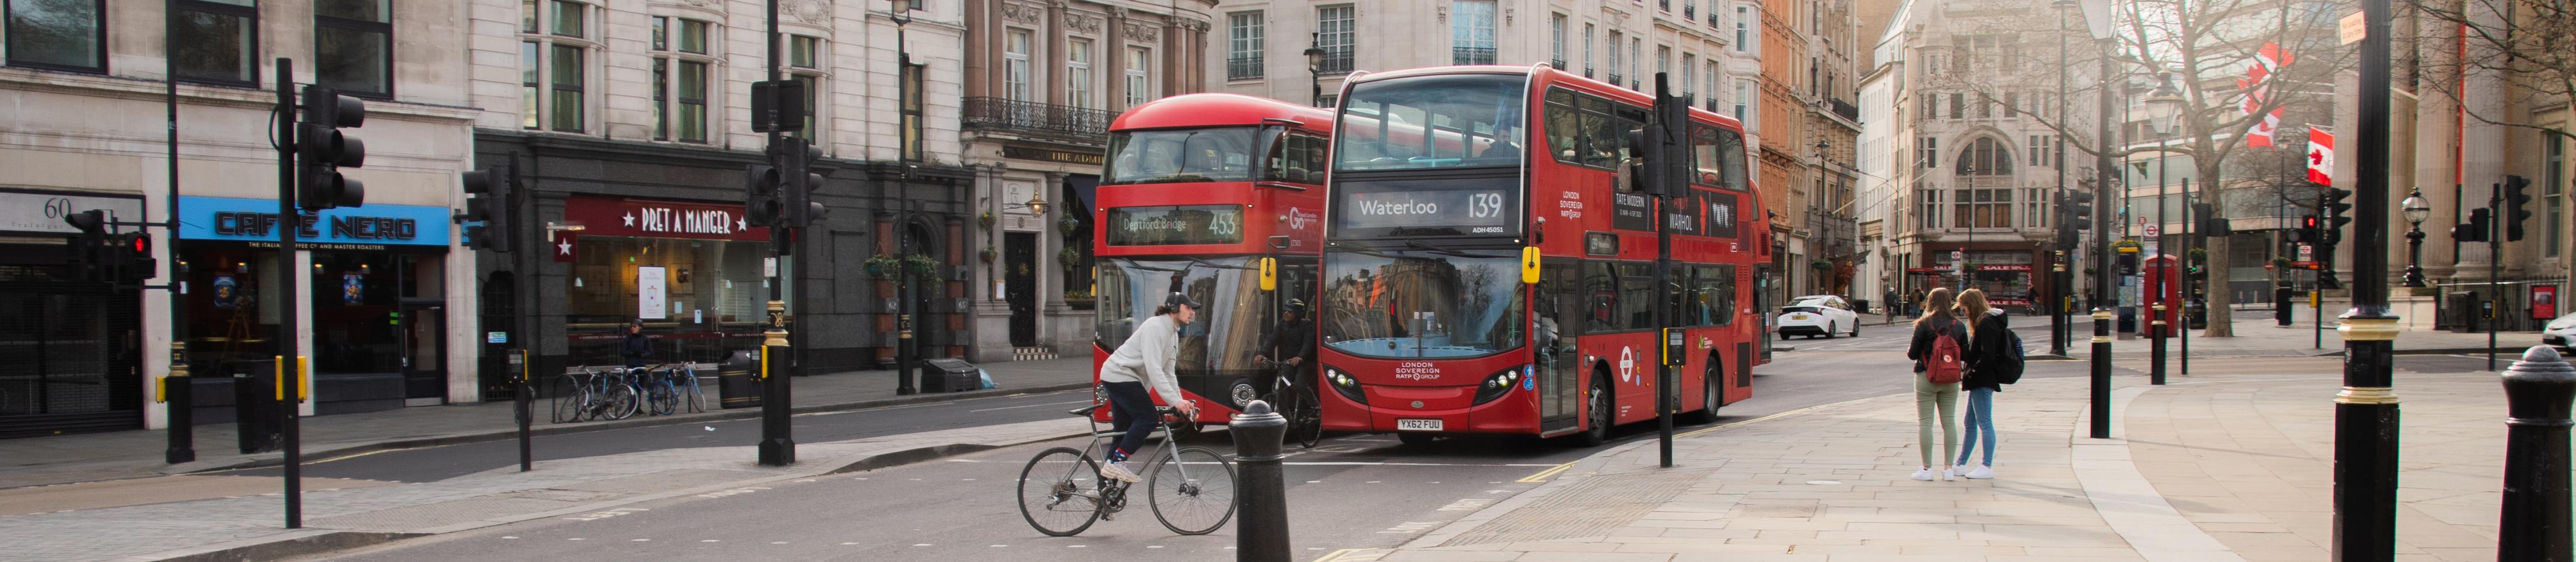
[[[762,482],[891,467],[1084,433],[1077,420],[1033,420],[832,443],[799,443],[793,467],[760,467],[752,446],[703,446],[538,461],[466,477],[317,487],[304,528],[283,528],[276,492],[157,505],[0,516],[0,562],[15,559],[281,559],[376,541],[453,534],[533,518],[611,518],[634,503],[757,490]],[[276,482],[276,480],[265,480]]]

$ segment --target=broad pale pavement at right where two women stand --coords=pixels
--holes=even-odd
[[[1914,482],[1911,394],[1793,410],[1595,454],[1391,552],[1327,559],[2324,559],[2334,358],[2120,376],[2115,438],[2081,376],[1996,394],[1996,480]],[[2398,559],[2494,559],[2504,397],[2494,374],[2401,374]]]

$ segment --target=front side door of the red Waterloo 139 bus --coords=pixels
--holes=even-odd
[[[1582,402],[1582,351],[1574,335],[1584,333],[1582,271],[1569,263],[1548,263],[1538,271],[1535,304],[1530,307],[1530,369],[1538,392],[1538,433],[1574,431],[1574,405]]]

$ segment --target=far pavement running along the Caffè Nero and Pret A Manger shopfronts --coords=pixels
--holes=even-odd
[[[894,394],[894,371],[845,371],[799,376],[793,402],[799,412],[850,410],[902,402],[966,400],[1015,392],[1082,389],[1092,384],[1090,353],[1048,361],[979,363],[992,374],[994,387],[948,394]],[[760,407],[719,410],[716,387],[706,387],[708,412],[636,415],[608,423],[546,423],[546,405],[538,402],[533,433],[580,433],[603,428],[665,425],[719,418],[757,418]],[[497,441],[518,436],[513,402],[471,402],[443,407],[402,407],[384,412],[348,412],[304,418],[304,459],[330,459],[381,449],[440,446],[466,441]],[[196,461],[165,464],[167,431],[116,431],[46,438],[0,438],[0,490],[28,485],[62,485],[90,480],[160,477],[206,469],[270,467],[281,454],[240,454],[232,423],[196,425]]]

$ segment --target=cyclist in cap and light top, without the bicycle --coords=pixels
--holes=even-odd
[[[1180,410],[1180,418],[1195,418],[1198,405],[1180,397],[1177,376],[1172,363],[1180,358],[1180,327],[1198,320],[1198,302],[1188,294],[1172,294],[1154,307],[1154,317],[1136,325],[1136,335],[1128,335],[1110,358],[1100,363],[1100,394],[1110,397],[1110,428],[1126,431],[1118,436],[1115,449],[1103,454],[1108,467],[1100,467],[1103,477],[1136,482],[1136,472],[1126,467],[1126,456],[1144,449],[1144,438],[1154,433],[1159,415],[1154,412],[1154,400],[1146,397],[1146,384],[1154,384],[1154,394],[1162,394],[1164,405]]]

